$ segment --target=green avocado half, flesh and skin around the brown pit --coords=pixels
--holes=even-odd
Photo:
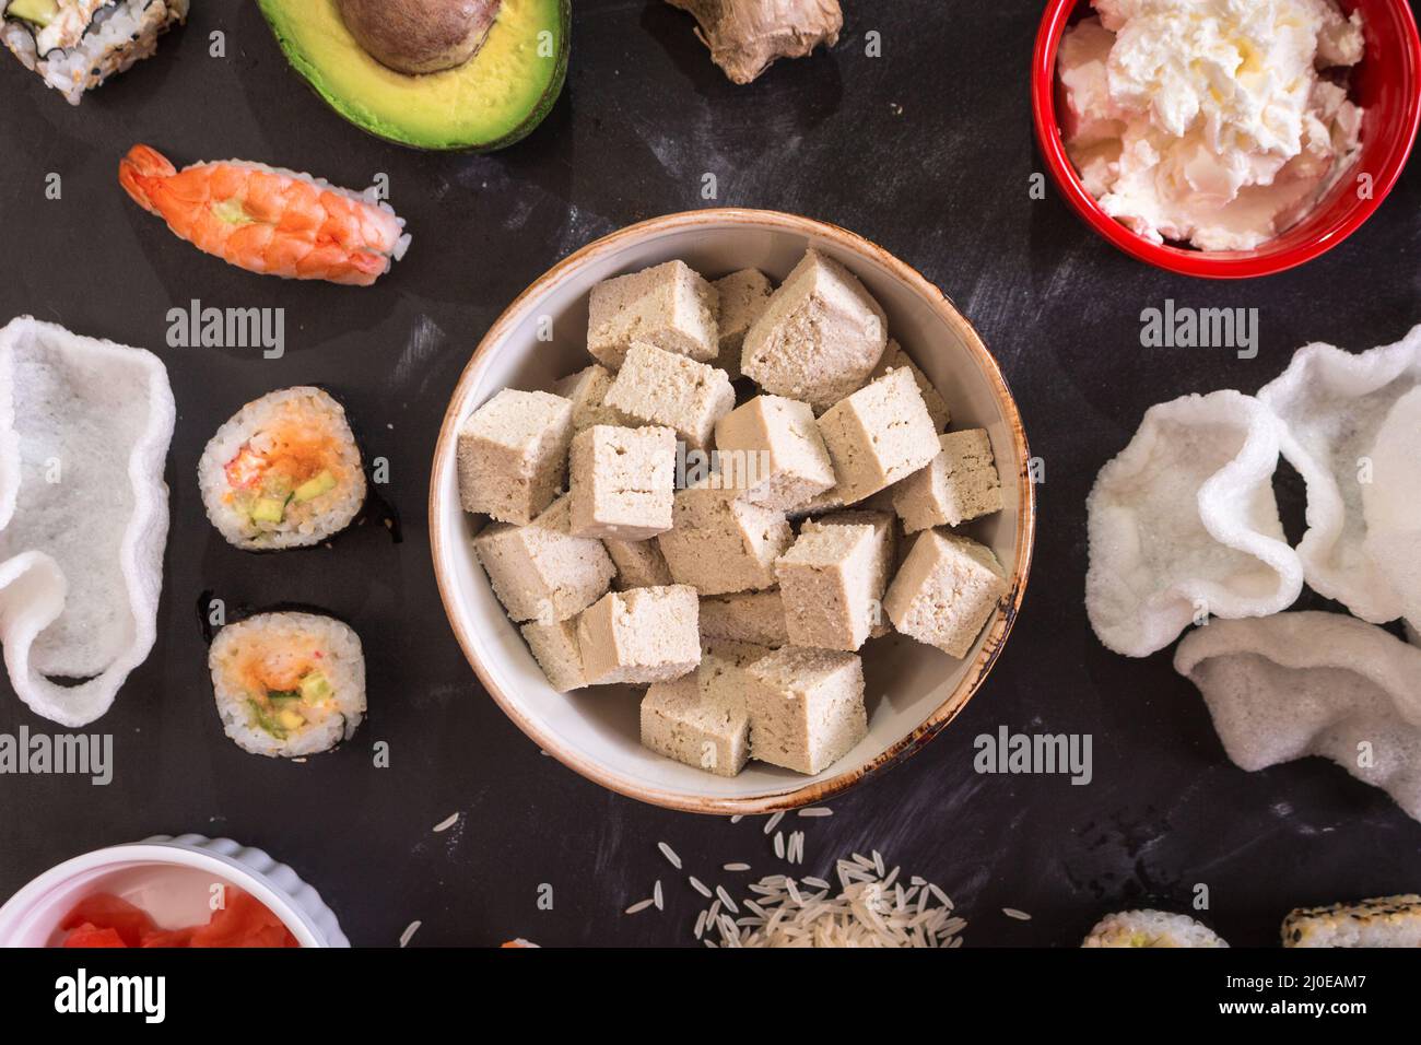
[[[503,0],[459,68],[406,75],[351,36],[335,0],[259,0],[287,61],[355,127],[418,149],[502,149],[536,128],[567,78],[571,0]]]

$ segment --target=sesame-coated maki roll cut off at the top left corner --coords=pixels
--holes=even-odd
[[[0,0],[0,41],[71,105],[186,20],[189,0]]]

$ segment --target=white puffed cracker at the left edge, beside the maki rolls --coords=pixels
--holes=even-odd
[[[61,725],[108,711],[152,650],[175,417],[152,353],[0,328],[0,643],[20,700]]]

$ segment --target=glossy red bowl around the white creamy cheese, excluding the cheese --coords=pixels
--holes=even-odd
[[[1343,178],[1317,208],[1282,236],[1253,250],[1204,252],[1157,246],[1141,239],[1106,215],[1080,182],[1080,175],[1061,144],[1056,107],[1056,48],[1077,13],[1088,11],[1086,0],[1049,0],[1032,60],[1032,114],[1036,141],[1052,176],[1067,202],[1096,232],[1150,264],[1185,276],[1248,279],[1270,276],[1310,262],[1331,250],[1381,206],[1401,176],[1417,125],[1421,124],[1421,38],[1407,0],[1339,0],[1351,13],[1360,10],[1366,24],[1367,53],[1351,73],[1351,97],[1364,109],[1361,156],[1354,168],[1373,178],[1370,199],[1357,193],[1357,182]]]

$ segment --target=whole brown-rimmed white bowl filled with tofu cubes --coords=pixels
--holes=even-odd
[[[668,808],[789,809],[982,685],[1032,472],[996,361],[908,264],[794,215],[669,215],[553,267],[475,351],[435,574],[549,755]]]

